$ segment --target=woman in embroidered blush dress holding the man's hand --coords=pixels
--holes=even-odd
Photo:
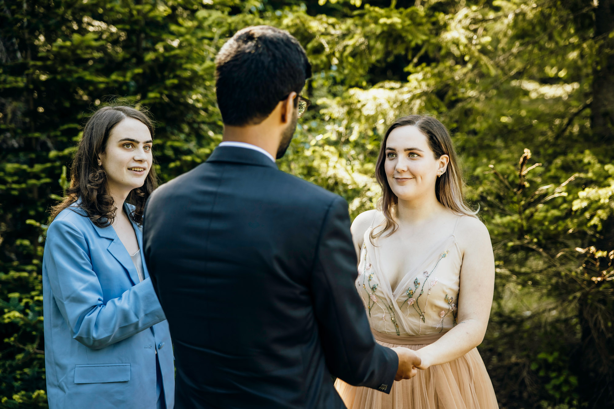
[[[398,119],[379,151],[378,210],[352,224],[356,289],[373,335],[417,351],[418,375],[389,395],[335,383],[348,409],[494,409],[476,346],[486,332],[494,287],[488,230],[467,207],[446,128],[426,115]]]

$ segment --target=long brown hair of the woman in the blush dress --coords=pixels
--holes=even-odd
[[[398,203],[398,198],[388,184],[384,163],[386,161],[386,141],[388,136],[395,128],[406,127],[407,125],[413,125],[426,136],[435,159],[440,158],[441,155],[448,155],[450,158],[445,173],[435,181],[435,195],[439,203],[454,213],[459,214],[459,216],[464,214],[476,217],[477,211],[473,211],[465,203],[462,192],[464,181],[462,179],[461,166],[448,130],[443,126],[443,123],[429,115],[408,115],[392,123],[386,131],[379,148],[378,162],[375,166],[375,177],[378,180],[379,187],[382,189],[382,197],[379,199],[378,208],[386,217],[386,221],[383,222],[383,228],[377,233],[373,233],[375,229],[371,230],[371,240],[378,238],[387,231],[389,233],[386,236],[390,236],[398,228],[398,224],[394,219],[394,209]]]

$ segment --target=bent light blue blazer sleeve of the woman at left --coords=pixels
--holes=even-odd
[[[72,338],[83,345],[104,348],[166,319],[149,278],[104,303],[84,235],[68,220],[49,227],[45,255],[55,302]]]

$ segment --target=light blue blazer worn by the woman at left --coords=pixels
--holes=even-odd
[[[128,214],[131,206],[125,204]],[[42,267],[45,376],[50,409],[155,409],[160,360],[174,405],[173,346],[133,222],[145,279],[113,227],[73,204],[47,230]]]

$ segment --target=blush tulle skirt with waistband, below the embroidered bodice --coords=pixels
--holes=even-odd
[[[373,335],[383,346],[403,346],[415,351],[433,343],[443,334],[398,337],[373,331]],[[336,380],[335,388],[348,409],[499,408],[491,378],[476,348],[446,364],[418,370],[418,375],[409,380],[395,382],[390,394],[352,386],[340,379]]]

